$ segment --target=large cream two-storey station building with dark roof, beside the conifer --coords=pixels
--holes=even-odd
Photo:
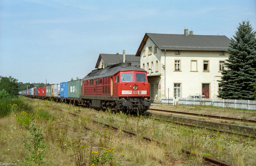
[[[221,35],[146,33],[135,56],[148,72],[151,101],[201,95],[217,98],[230,39]]]

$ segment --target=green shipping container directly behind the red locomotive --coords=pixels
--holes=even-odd
[[[68,82],[68,98],[80,98],[82,83],[81,80]]]

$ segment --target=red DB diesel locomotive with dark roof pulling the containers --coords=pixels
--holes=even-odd
[[[131,63],[95,69],[83,78],[82,105],[143,114],[150,106],[149,88],[147,72]]]

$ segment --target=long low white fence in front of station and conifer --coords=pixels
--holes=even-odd
[[[177,99],[176,99],[177,100]],[[178,104],[181,105],[212,105],[216,107],[240,108],[256,110],[254,100],[227,100],[227,99],[207,99],[207,98],[179,98]],[[162,98],[162,104],[173,104],[173,98]]]

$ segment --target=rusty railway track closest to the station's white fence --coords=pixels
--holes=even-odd
[[[150,108],[150,110],[158,111],[158,112],[177,113],[177,114],[183,114],[183,115],[192,115],[192,116],[198,116],[198,117],[210,117],[210,118],[221,119],[221,120],[235,120],[235,121],[240,121],[240,122],[256,123],[256,120],[245,120],[245,119],[234,118],[234,117],[221,117],[221,116],[214,116],[214,115],[195,114],[195,113],[190,113],[190,112],[180,112],[180,111],[171,111],[171,110],[158,110],[158,109],[152,109],[152,108]]]

